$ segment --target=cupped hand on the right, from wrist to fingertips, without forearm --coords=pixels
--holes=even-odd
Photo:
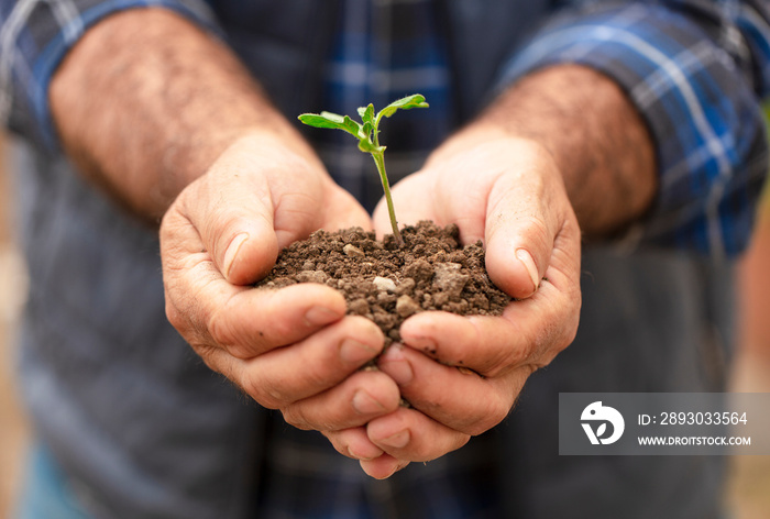
[[[529,375],[572,342],[581,307],[578,220],[539,144],[465,130],[395,186],[393,198],[400,222],[457,223],[463,243],[483,240],[491,279],[518,300],[501,317],[422,312],[404,322],[404,344],[391,346],[380,368],[414,408],[330,438],[343,453],[382,452],[361,459],[374,477],[435,460],[499,423]],[[374,224],[389,232],[384,203]]]

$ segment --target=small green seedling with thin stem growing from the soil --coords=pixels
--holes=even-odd
[[[302,113],[299,120],[308,126],[315,128],[332,128],[343,130],[359,140],[359,150],[364,153],[370,153],[374,158],[374,164],[377,166],[380,179],[383,183],[383,191],[385,191],[385,201],[387,202],[387,211],[391,216],[391,227],[393,235],[396,238],[398,245],[404,245],[404,239],[398,231],[398,222],[396,221],[396,212],[393,209],[393,199],[391,198],[391,184],[387,180],[385,172],[385,146],[380,144],[380,122],[382,119],[389,118],[400,110],[409,110],[411,108],[428,108],[425,102],[425,96],[413,93],[397,101],[393,101],[387,107],[383,108],[377,114],[374,114],[374,106],[370,103],[367,107],[359,108],[359,117],[361,122],[353,121],[348,115],[338,115],[331,112],[321,113]]]

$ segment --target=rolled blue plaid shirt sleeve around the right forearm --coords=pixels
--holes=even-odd
[[[626,244],[729,256],[749,241],[768,172],[769,22],[763,0],[575,10],[517,52],[502,86],[560,63],[613,78],[649,128],[659,174],[653,206]]]

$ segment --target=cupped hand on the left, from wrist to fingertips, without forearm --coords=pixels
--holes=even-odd
[[[345,316],[344,298],[330,287],[251,285],[282,247],[317,229],[351,225],[371,229],[364,209],[305,147],[271,134],[231,145],[182,191],[161,225],[172,324],[209,367],[260,405],[330,439],[398,407],[391,377],[359,371],[382,351],[382,332]],[[356,444],[345,450],[358,459],[382,453]]]

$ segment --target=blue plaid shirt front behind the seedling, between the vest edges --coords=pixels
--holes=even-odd
[[[345,0],[339,26],[343,30],[327,67],[326,110],[354,114],[367,102],[378,110],[415,92],[430,103],[429,110],[399,112],[382,125],[380,139],[387,145],[388,177],[395,184],[419,169],[452,126],[446,35],[436,2]],[[315,132],[311,137],[337,181],[373,209],[382,187],[372,159],[344,133]]]

